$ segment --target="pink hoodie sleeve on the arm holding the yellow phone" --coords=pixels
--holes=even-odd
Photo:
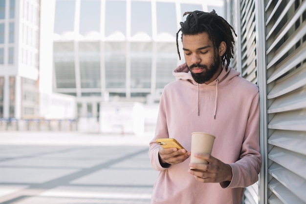
[[[166,110],[165,95],[163,92],[160,98],[160,103],[159,103],[158,117],[157,117],[156,128],[155,128],[155,137],[150,142],[150,147],[149,147],[149,157],[150,157],[151,165],[153,169],[157,171],[162,171],[162,170],[165,170],[171,167],[171,165],[167,167],[163,167],[160,164],[159,157],[158,157],[159,144],[155,142],[157,138],[169,138],[165,110]]]

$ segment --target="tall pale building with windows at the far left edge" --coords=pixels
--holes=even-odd
[[[0,0],[0,119],[38,117],[39,0]]]

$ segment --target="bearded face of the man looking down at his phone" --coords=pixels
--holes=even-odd
[[[218,52],[206,32],[183,35],[183,50],[186,64],[197,83],[214,81],[221,71]]]

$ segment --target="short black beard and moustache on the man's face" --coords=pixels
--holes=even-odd
[[[213,63],[210,64],[209,68],[205,64],[192,64],[190,66],[187,65],[189,71],[191,72],[192,78],[194,78],[197,83],[205,83],[211,80],[213,76],[217,73],[219,66],[220,58],[216,56],[214,58]],[[201,73],[193,73],[192,69],[195,67],[203,68],[204,70]]]

